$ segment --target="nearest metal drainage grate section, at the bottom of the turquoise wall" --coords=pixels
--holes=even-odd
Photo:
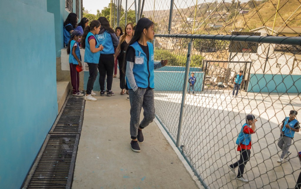
[[[70,188],[78,142],[79,134],[48,134],[23,188]]]

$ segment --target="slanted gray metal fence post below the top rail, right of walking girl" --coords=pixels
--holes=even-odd
[[[187,60],[186,60],[186,68],[185,68],[185,76],[184,76],[184,84],[183,84],[183,93],[182,93],[182,102],[181,102],[181,111],[180,111],[180,119],[178,125],[178,135],[177,135],[177,143],[176,146],[179,147],[180,139],[181,139],[181,132],[182,132],[182,123],[183,123],[183,114],[185,110],[185,99],[186,99],[186,91],[187,91],[187,82],[189,76],[189,67],[190,67],[190,60],[191,60],[191,47],[192,47],[192,39],[188,44],[188,52],[187,52]]]

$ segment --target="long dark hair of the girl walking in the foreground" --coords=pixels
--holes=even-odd
[[[144,29],[149,29],[153,25],[154,25],[154,22],[151,21],[148,18],[141,18],[140,20],[138,20],[134,36],[131,39],[131,41],[130,41],[127,49],[126,49],[126,56],[128,54],[129,46],[140,39],[140,37],[141,37],[142,32],[143,32]],[[123,64],[123,72],[124,73],[126,72],[126,56],[125,56],[125,61],[124,61],[124,64]]]

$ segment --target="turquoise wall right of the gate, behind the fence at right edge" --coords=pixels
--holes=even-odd
[[[301,75],[250,74],[247,92],[301,93]]]

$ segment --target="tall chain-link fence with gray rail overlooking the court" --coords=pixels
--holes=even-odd
[[[127,22],[135,25],[139,12],[155,23],[154,58],[169,60],[155,71],[156,117],[196,179],[207,188],[294,188],[301,136],[295,133],[291,154],[282,161],[279,139],[285,138],[280,128],[290,111],[299,112],[296,119],[301,114],[301,1],[123,0],[121,5],[136,13]],[[250,113],[258,121],[250,160],[244,161],[248,182],[242,182],[236,179],[238,167],[234,174],[229,165],[240,158],[236,139]]]

